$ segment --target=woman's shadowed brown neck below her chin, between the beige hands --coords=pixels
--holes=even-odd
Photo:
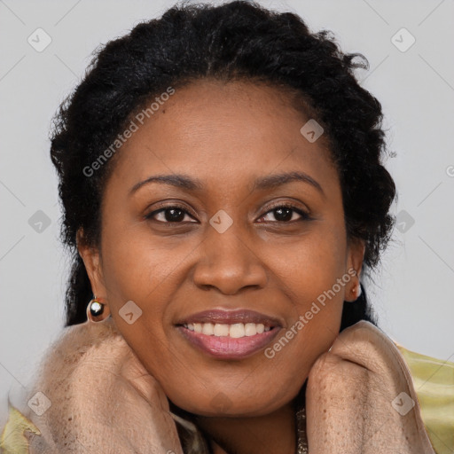
[[[250,418],[197,416],[196,423],[212,440],[214,454],[294,454],[296,424],[294,403]]]

